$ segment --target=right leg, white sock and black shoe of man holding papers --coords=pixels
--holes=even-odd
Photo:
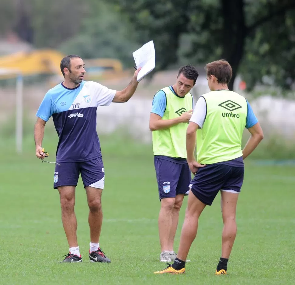
[[[92,262],[111,262],[102,252],[99,246],[99,237],[102,227],[102,189],[87,186],[87,202],[89,207],[88,223],[90,228],[90,250],[89,258]],[[95,248],[96,247],[96,248]],[[93,248],[93,250],[92,250]]]

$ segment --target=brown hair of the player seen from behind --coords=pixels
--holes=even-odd
[[[218,83],[228,84],[231,81],[233,70],[231,65],[224,59],[207,63],[205,66],[207,76],[214,75]]]

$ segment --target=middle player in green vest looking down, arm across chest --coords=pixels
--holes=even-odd
[[[161,262],[171,262],[176,257],[173,244],[179,210],[191,181],[185,141],[194,106],[189,91],[198,75],[193,66],[181,67],[176,83],[159,90],[152,103],[149,127],[153,137],[154,166],[161,201],[158,218]]]

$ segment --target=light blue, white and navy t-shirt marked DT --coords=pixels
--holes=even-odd
[[[109,106],[116,90],[93,81],[82,81],[69,89],[62,83],[50,89],[36,113],[48,121],[52,116],[59,142],[57,162],[80,162],[101,157],[96,132],[98,106]]]

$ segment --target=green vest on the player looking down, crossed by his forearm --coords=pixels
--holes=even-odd
[[[179,117],[182,113],[193,109],[193,96],[175,95],[169,87],[161,89],[166,94],[166,109],[162,120]],[[188,123],[180,123],[165,130],[152,132],[154,155],[186,158],[186,129]]]

